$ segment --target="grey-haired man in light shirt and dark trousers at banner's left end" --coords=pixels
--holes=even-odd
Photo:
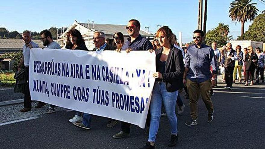
[[[31,40],[31,33],[28,30],[25,30],[22,33],[23,40],[25,45],[23,46],[23,57],[21,57],[20,63],[17,66],[17,70],[21,70],[21,66],[25,66],[25,74],[27,78],[27,85],[25,86],[24,91],[24,108],[20,112],[28,112],[31,110],[31,97],[30,97],[30,86],[29,86],[29,63],[30,63],[30,49],[39,48],[39,45]]]

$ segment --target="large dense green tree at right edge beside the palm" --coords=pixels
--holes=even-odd
[[[259,14],[244,35],[239,36],[237,40],[265,42],[265,14]]]

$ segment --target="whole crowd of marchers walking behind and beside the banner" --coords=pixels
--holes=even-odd
[[[156,135],[159,129],[161,116],[167,116],[170,124],[171,139],[168,146],[172,147],[178,141],[178,120],[176,116],[176,104],[178,105],[178,114],[181,114],[185,105],[179,95],[182,90],[185,91],[185,96],[189,99],[191,120],[186,122],[186,126],[198,124],[198,109],[197,102],[199,97],[202,98],[208,114],[207,122],[211,123],[214,116],[214,106],[211,100],[211,95],[214,95],[213,87],[217,86],[217,72],[219,67],[221,73],[224,74],[223,81],[226,82],[226,87],[232,90],[232,84],[238,79],[242,83],[242,68],[244,69],[245,85],[250,85],[254,82],[254,73],[256,70],[256,83],[264,82],[264,63],[265,51],[261,52],[260,48],[253,47],[244,48],[237,45],[236,49],[232,49],[232,44],[227,43],[220,50],[217,48],[217,43],[212,42],[211,47],[205,45],[204,32],[195,30],[193,32],[193,44],[186,44],[181,48],[177,44],[176,36],[168,26],[163,26],[157,30],[155,37],[150,42],[148,39],[140,35],[140,23],[138,20],[129,20],[126,29],[129,34],[128,39],[124,39],[121,32],[114,33],[114,44],[110,45],[110,40],[106,40],[106,36],[102,31],[95,31],[93,42],[95,48],[92,51],[101,52],[104,50],[113,50],[117,53],[125,51],[149,51],[156,54],[156,72],[152,74],[155,78],[153,92],[151,95],[150,107],[146,120],[148,129],[148,141],[141,149],[151,149],[155,147]],[[46,48],[61,49],[61,46],[52,40],[52,35],[48,30],[40,33],[43,45]],[[23,32],[23,57],[18,64],[18,70],[25,70],[27,81],[29,81],[29,57],[31,48],[39,48],[39,46],[31,40],[31,33],[28,30]],[[77,29],[70,29],[67,33],[67,42],[64,47],[71,50],[85,50],[85,40]],[[236,74],[238,73],[238,78]],[[261,76],[259,79],[259,75]],[[31,110],[31,97],[29,84],[25,87],[24,92],[24,108],[20,112]],[[38,102],[35,108],[41,108],[45,105],[43,102]],[[55,105],[49,105],[44,112],[55,112]],[[164,109],[164,111],[163,111]],[[75,126],[83,129],[90,129],[92,115],[89,113],[81,113],[76,111],[75,116],[69,120]],[[107,127],[113,127],[117,124],[117,120],[110,119]],[[130,123],[121,122],[121,131],[113,135],[113,138],[120,139],[129,137]]]

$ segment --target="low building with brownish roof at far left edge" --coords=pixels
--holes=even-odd
[[[41,40],[33,40],[40,48],[43,48],[43,42]],[[0,56],[7,52],[22,51],[25,42],[22,39],[0,39]],[[11,70],[14,60],[10,58],[0,59],[0,70]]]

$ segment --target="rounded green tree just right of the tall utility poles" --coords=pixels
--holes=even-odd
[[[232,36],[228,36],[229,26],[219,23],[218,26],[212,30],[209,30],[205,35],[205,43],[211,45],[212,42],[216,42],[217,47],[221,47],[232,39]]]

